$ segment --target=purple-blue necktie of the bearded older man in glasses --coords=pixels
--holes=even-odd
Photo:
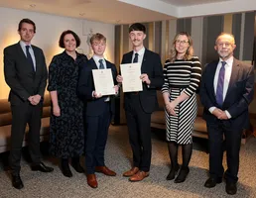
[[[217,90],[216,90],[216,102],[219,106],[223,104],[223,87],[225,79],[225,61],[221,61],[221,68],[218,73]]]

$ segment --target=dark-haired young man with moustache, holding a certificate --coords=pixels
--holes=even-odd
[[[135,23],[129,28],[129,37],[133,50],[123,55],[122,63],[141,63],[141,80],[143,91],[124,93],[124,107],[129,141],[133,151],[133,166],[123,173],[130,181],[141,181],[149,176],[151,164],[151,114],[158,106],[156,89],[161,88],[163,67],[159,54],[145,49],[143,41],[146,38],[144,25]],[[121,83],[121,75],[117,81]]]

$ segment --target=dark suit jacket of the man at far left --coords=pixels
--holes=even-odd
[[[5,81],[11,88],[9,101],[12,105],[28,100],[32,95],[44,97],[47,85],[47,65],[42,49],[32,46],[36,58],[36,72],[31,67],[20,43],[4,49]]]

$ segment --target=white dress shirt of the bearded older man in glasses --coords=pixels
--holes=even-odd
[[[215,72],[215,76],[214,76],[214,81],[213,81],[215,95],[216,95],[216,91],[217,91],[218,74],[219,74],[219,70],[222,66],[221,61],[223,61],[223,60],[221,58],[219,58],[217,68],[216,68],[216,72]],[[225,67],[225,77],[224,77],[224,84],[223,84],[223,101],[225,100],[225,97],[226,97],[226,92],[227,92],[227,89],[228,89],[228,85],[229,85],[229,81],[230,81],[230,77],[231,77],[231,72],[232,72],[233,61],[234,61],[233,56],[229,57],[225,61],[226,64],[224,65],[224,67]],[[216,107],[210,107],[209,112],[212,113],[215,109],[216,109]],[[231,115],[229,114],[229,112],[225,111],[225,113],[226,113],[227,117],[230,119]]]

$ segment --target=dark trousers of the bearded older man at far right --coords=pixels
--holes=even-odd
[[[226,149],[227,169],[224,177],[227,182],[237,182],[239,169],[239,151],[241,146],[242,129],[232,129],[230,121],[207,123],[209,137],[209,173],[212,177],[222,177],[224,148]],[[223,136],[225,141],[223,142]],[[225,145],[223,145],[225,144]]]

